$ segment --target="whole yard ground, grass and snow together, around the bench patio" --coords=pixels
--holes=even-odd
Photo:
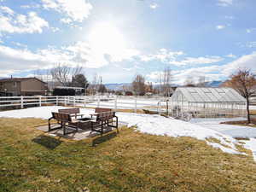
[[[1,191],[253,191],[254,128],[118,113],[119,134],[73,141],[36,129],[50,111],[0,113]],[[90,113],[92,109],[82,109]],[[239,129],[238,129],[238,128]],[[137,131],[136,131],[137,130]],[[253,135],[254,134],[254,135]],[[243,137],[236,140],[235,137]]]

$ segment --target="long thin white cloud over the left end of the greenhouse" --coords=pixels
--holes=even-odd
[[[187,65],[199,65],[199,64],[210,64],[218,61],[223,61],[220,56],[201,56],[201,57],[187,57],[183,61],[170,61],[170,64],[176,66],[187,66]]]

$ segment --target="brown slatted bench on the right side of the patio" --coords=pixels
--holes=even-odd
[[[113,127],[119,132],[119,119],[111,108],[96,108],[95,113],[90,114],[90,116],[91,118],[95,117],[91,121],[91,131],[103,134],[104,128]],[[115,125],[113,125],[113,119],[115,119]],[[100,127],[100,129],[96,129],[97,127]]]

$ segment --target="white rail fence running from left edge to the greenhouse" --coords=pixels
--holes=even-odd
[[[1,96],[0,110],[9,108],[30,108],[45,105],[69,105],[84,108],[147,109],[160,112],[164,97],[146,96]]]

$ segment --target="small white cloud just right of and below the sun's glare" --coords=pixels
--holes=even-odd
[[[140,55],[141,61],[159,60],[161,62],[174,61],[177,56],[183,55],[183,51],[171,51],[167,49],[160,49],[156,54]]]

